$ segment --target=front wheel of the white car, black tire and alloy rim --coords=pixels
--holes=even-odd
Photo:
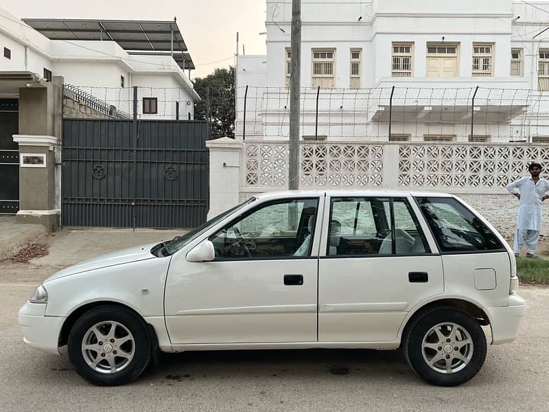
[[[93,332],[94,325],[100,325],[98,332]],[[109,335],[109,325],[114,328],[116,336]],[[101,341],[97,341],[97,336]],[[107,347],[109,337],[113,343]],[[84,340],[89,347],[97,347],[101,352],[84,351]],[[100,306],[84,313],[75,322],[69,334],[68,352],[71,363],[82,378],[95,385],[124,385],[141,375],[150,363],[150,334],[143,319],[131,310],[115,305]],[[95,368],[102,371],[90,365],[94,359],[98,362]],[[107,371],[108,368],[111,369]]]

